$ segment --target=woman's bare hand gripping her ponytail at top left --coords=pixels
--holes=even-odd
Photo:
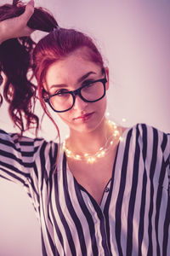
[[[26,5],[25,12],[18,16],[8,20],[0,22],[0,43],[10,38],[20,38],[30,36],[33,30],[26,26],[31,15],[34,13],[34,0],[31,0]]]

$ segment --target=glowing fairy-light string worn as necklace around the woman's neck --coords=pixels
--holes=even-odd
[[[107,139],[105,145],[99,148],[99,150],[95,154],[74,154],[71,149],[66,147],[66,143],[64,141],[63,149],[65,150],[66,156],[74,160],[85,160],[91,164],[93,164],[99,158],[105,157],[105,154],[114,146],[114,140],[117,138],[119,138],[119,140],[122,140],[122,137],[120,136],[120,131],[118,131],[116,123],[112,122],[111,120],[107,120],[107,123],[108,125],[110,125],[111,128],[113,128],[113,133],[111,134],[111,137]]]

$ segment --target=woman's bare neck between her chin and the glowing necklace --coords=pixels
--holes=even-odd
[[[95,154],[99,148],[105,145],[112,133],[113,127],[110,127],[107,120],[103,119],[94,131],[87,133],[71,131],[66,145],[74,154]]]

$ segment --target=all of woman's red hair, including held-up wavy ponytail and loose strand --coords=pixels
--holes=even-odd
[[[18,1],[14,0],[13,4],[0,7],[0,21],[20,16],[25,11],[26,6],[17,6],[17,3]],[[92,38],[74,29],[60,28],[53,15],[45,9],[36,8],[27,26],[49,33],[37,44],[30,37],[24,37],[9,39],[0,45],[0,73],[5,73],[7,78],[3,97],[9,103],[11,119],[22,134],[32,124],[38,129],[39,119],[33,108],[38,90],[42,108],[59,132],[42,99],[42,86],[48,67],[81,47],[88,49],[86,53],[90,61],[100,67],[104,66],[103,59]],[[27,75],[31,69],[36,76],[37,86],[32,84],[32,77]],[[0,76],[0,84],[1,80]],[[0,104],[3,97],[0,95]]]

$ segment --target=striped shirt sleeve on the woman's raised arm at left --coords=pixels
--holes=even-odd
[[[26,183],[42,139],[20,137],[0,130],[0,177],[14,183]]]

